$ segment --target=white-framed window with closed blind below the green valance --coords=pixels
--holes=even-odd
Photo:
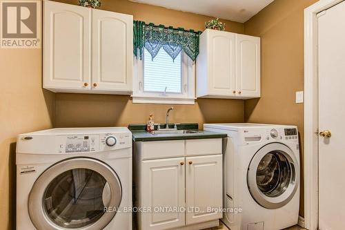
[[[173,60],[161,48],[152,59],[145,48],[134,63],[133,103],[195,104],[195,64],[183,51]]]

